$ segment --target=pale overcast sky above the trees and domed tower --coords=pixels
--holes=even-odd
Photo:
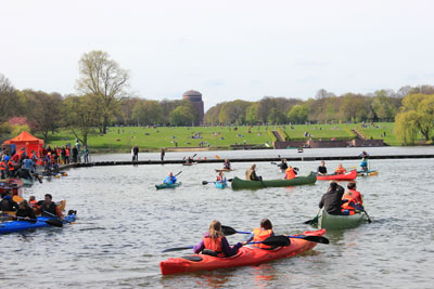
[[[76,93],[102,50],[148,100],[205,108],[434,84],[434,1],[1,0],[0,74],[20,90]]]

